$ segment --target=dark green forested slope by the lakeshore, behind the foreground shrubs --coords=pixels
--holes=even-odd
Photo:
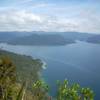
[[[9,57],[16,66],[18,81],[37,80],[38,72],[42,70],[42,62],[39,59],[32,59],[30,56],[19,55],[0,50],[0,57]]]

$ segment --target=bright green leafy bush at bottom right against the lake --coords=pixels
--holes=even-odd
[[[63,83],[57,81],[57,100],[94,100],[94,93],[90,88],[81,88],[79,84],[69,85],[68,80]]]

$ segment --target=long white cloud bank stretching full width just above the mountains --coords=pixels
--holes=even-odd
[[[0,31],[81,31],[100,33],[95,15],[78,18],[37,15],[25,10],[0,10]]]

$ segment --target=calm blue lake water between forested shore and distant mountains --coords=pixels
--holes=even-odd
[[[0,44],[2,49],[40,58],[47,63],[43,78],[56,91],[56,80],[68,79],[94,90],[100,100],[100,45],[77,41],[66,46],[19,46]]]

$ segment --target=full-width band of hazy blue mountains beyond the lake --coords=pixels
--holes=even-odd
[[[14,45],[66,45],[76,40],[100,43],[100,35],[80,32],[0,32],[0,42]]]

